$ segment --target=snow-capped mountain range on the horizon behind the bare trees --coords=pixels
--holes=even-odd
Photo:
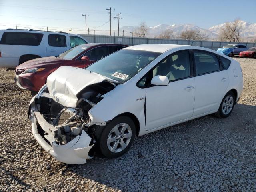
[[[220,29],[224,27],[226,23],[212,26],[208,29],[201,28],[199,26],[196,26],[194,24],[159,24],[156,26],[149,27],[148,30],[148,37],[155,37],[160,35],[165,30],[172,30],[173,36],[177,37],[180,35],[182,31],[186,30],[200,30],[201,33],[207,34],[208,38],[217,38],[220,34]],[[241,27],[241,37],[250,37],[250,38],[256,38],[256,23],[249,23],[246,21],[240,22]],[[134,30],[136,30],[138,26],[122,26],[120,28],[120,36],[122,36],[122,30],[124,30],[124,36],[132,36],[132,33]],[[101,35],[109,35],[109,30],[103,30],[100,32],[97,32],[97,34]],[[112,30],[112,35],[118,35],[118,30]]]

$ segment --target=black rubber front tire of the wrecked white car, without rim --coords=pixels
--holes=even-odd
[[[109,150],[108,148],[108,144],[107,144],[107,140],[108,140],[108,136],[111,132],[111,130],[118,124],[120,123],[126,123],[130,126],[131,128],[131,132],[132,132],[132,136],[130,138],[130,142],[128,143],[128,145],[126,146],[126,148],[124,148],[122,151],[120,152],[112,152]],[[134,141],[134,137],[135,137],[135,132],[136,132],[136,128],[135,128],[135,124],[133,122],[133,120],[130,117],[127,116],[119,116],[117,118],[114,118],[112,121],[110,121],[103,129],[102,129],[102,134],[100,135],[99,138],[99,149],[100,152],[106,157],[106,158],[117,158],[119,156],[122,156],[125,152],[127,152],[130,148],[130,146],[132,145],[133,141]]]

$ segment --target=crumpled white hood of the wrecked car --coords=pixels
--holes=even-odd
[[[86,86],[111,79],[88,70],[61,66],[47,78],[47,87],[52,98],[66,107],[76,107],[77,94]],[[114,82],[114,80],[113,80]]]

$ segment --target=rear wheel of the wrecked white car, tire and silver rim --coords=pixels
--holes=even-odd
[[[219,110],[216,113],[216,115],[219,116],[220,118],[228,117],[234,109],[234,104],[235,104],[235,96],[234,96],[234,93],[230,91],[222,99]]]

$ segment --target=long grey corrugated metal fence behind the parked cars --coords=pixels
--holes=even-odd
[[[139,37],[123,37],[123,36],[107,36],[107,35],[84,35],[80,34],[82,37],[86,38],[90,43],[118,43],[126,45],[139,45],[139,44],[178,44],[178,45],[194,45],[210,48],[217,50],[230,43],[236,42],[221,42],[221,41],[194,41],[193,40],[183,40],[183,39],[157,39],[157,38],[139,38]],[[255,43],[244,43],[248,48],[256,46]]]

